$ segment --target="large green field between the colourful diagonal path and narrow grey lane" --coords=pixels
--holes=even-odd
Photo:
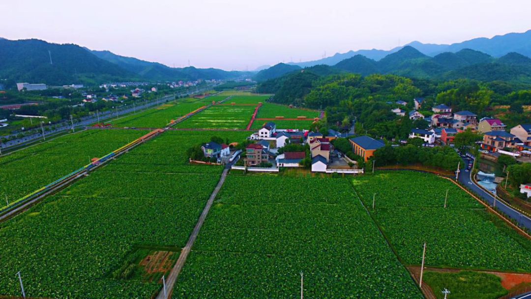
[[[188,165],[186,149],[241,134],[167,131],[3,223],[0,294],[20,294],[21,271],[31,297],[150,298],[159,281],[113,272],[139,247],[180,251],[221,172]]]

